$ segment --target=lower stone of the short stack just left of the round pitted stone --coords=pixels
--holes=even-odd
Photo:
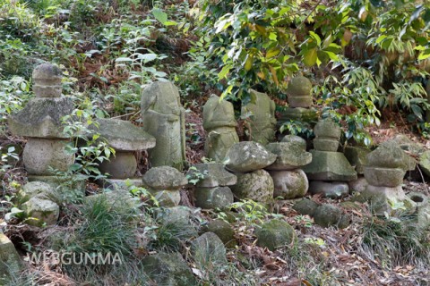
[[[233,204],[234,197],[230,188],[197,188],[194,191],[195,206],[202,208],[228,209]]]

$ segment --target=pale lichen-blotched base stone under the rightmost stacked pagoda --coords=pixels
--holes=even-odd
[[[377,187],[368,185],[361,197],[370,203],[372,212],[376,215],[413,214],[417,203],[408,198],[401,186]]]

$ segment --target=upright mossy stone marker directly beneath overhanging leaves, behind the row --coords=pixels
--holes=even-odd
[[[249,140],[266,146],[275,139],[275,102],[267,94],[251,89],[251,102],[242,105],[242,117],[247,120]]]

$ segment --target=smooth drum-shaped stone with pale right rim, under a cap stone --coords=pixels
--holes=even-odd
[[[273,179],[273,196],[275,198],[289,199],[305,196],[309,188],[309,182],[305,172],[302,170],[270,171],[269,173],[271,174],[271,179]]]

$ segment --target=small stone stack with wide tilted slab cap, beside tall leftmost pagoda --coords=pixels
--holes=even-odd
[[[127,180],[134,186],[142,185],[141,180],[134,178],[137,168],[134,152],[155,147],[155,138],[132,122],[116,119],[98,119],[90,129],[115,149],[115,156],[99,164],[100,172],[108,173],[108,180],[103,185],[123,187]]]

